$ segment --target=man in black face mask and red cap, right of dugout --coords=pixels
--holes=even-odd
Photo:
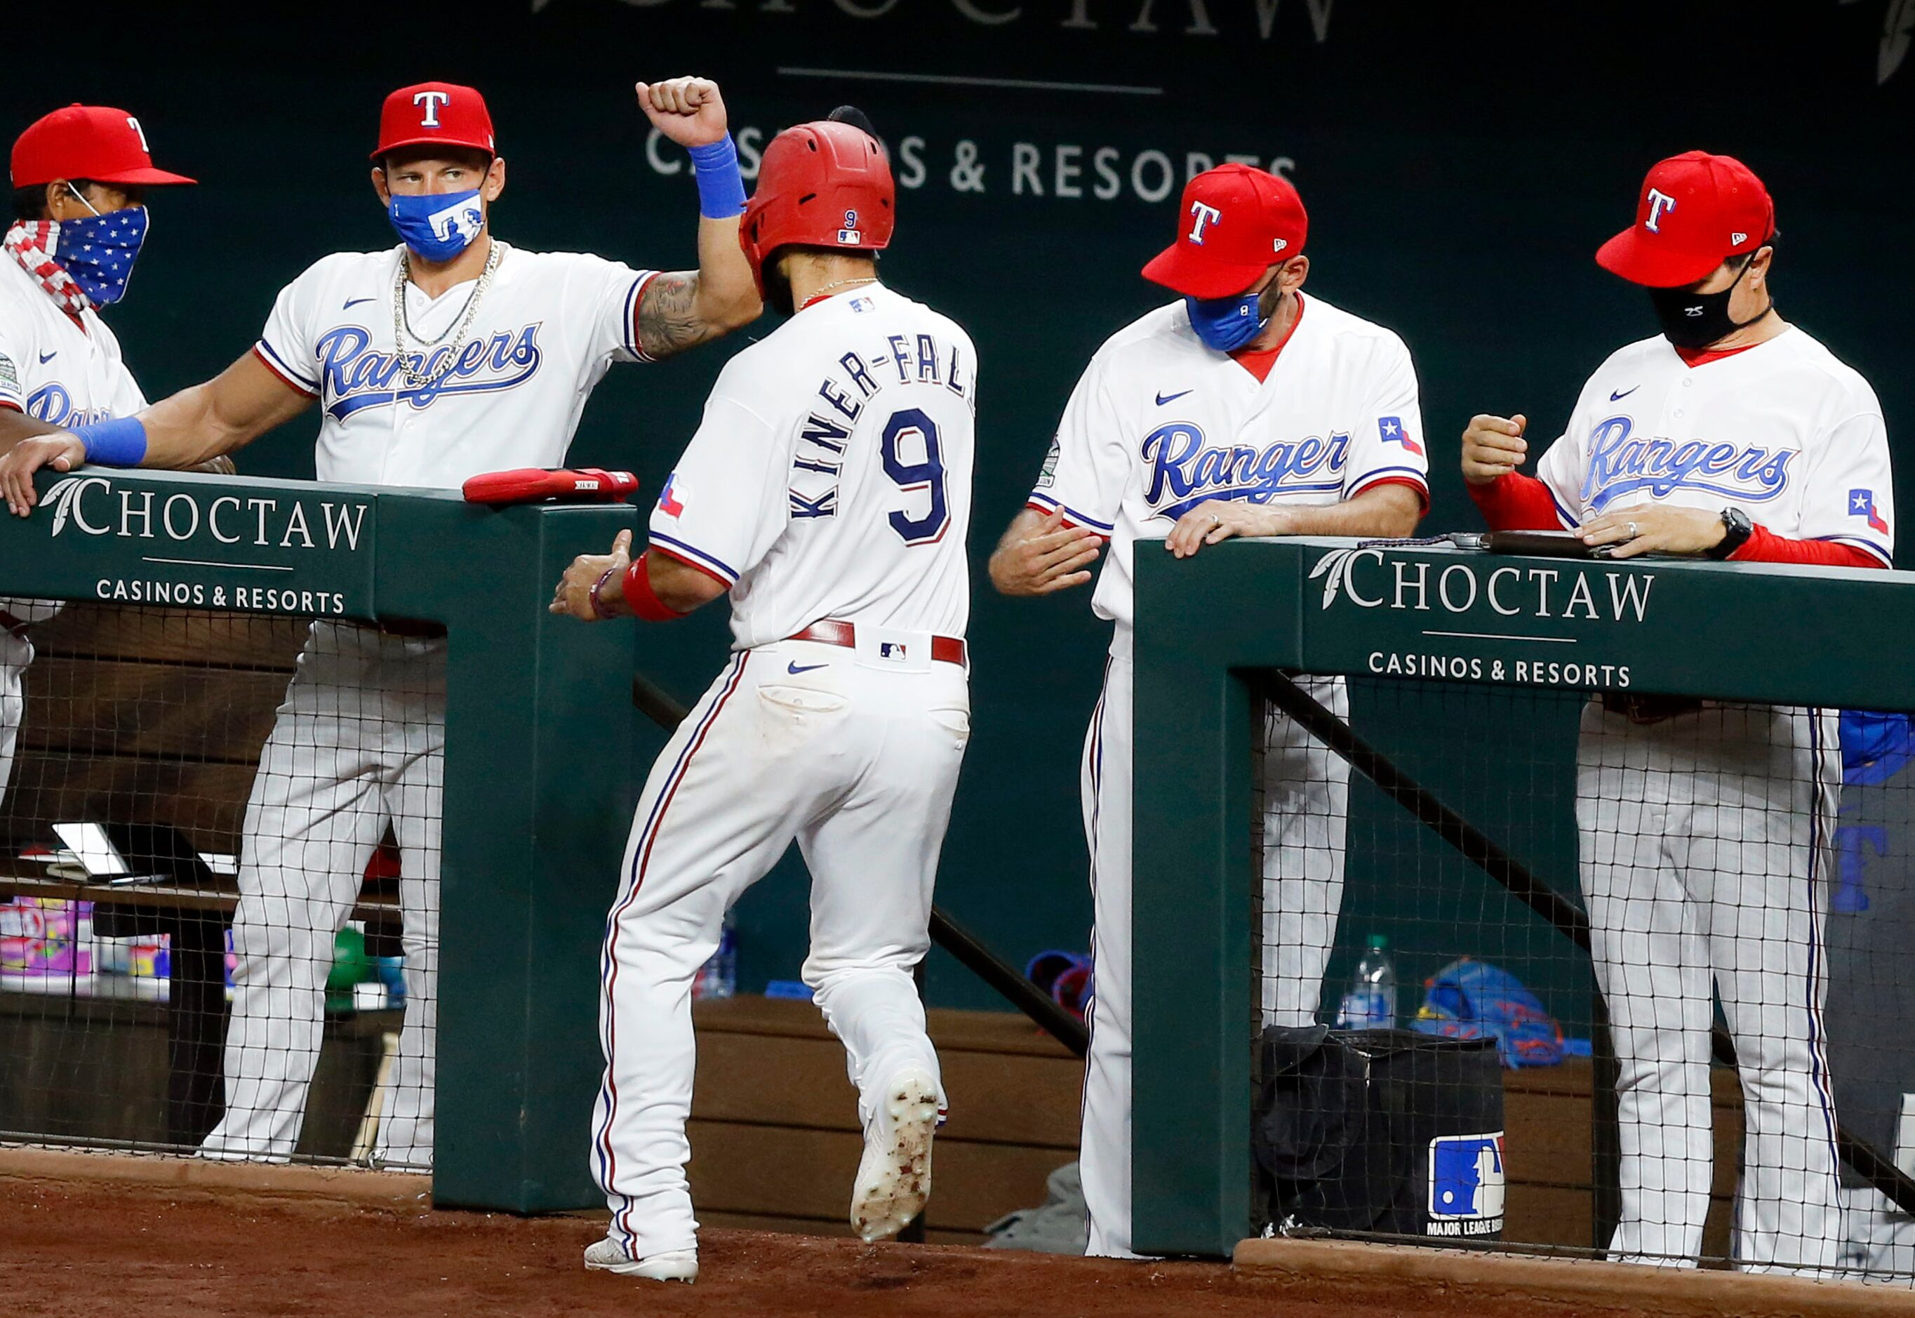
[[[1727,155],[1643,180],[1597,264],[1662,326],[1603,362],[1538,464],[1526,418],[1478,416],[1463,477],[1492,527],[1565,527],[1616,557],[1888,567],[1894,487],[1869,383],[1769,293],[1775,207]],[[1576,785],[1597,983],[1622,1075],[1611,1257],[1695,1264],[1710,1188],[1712,998],[1743,1071],[1737,1257],[1836,1262],[1821,1023],[1825,879],[1842,784],[1835,711],[1609,695]]]

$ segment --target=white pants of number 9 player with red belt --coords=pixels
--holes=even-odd
[[[963,667],[776,642],[732,655],[659,753],[632,820],[605,931],[592,1174],[609,1238],[634,1259],[691,1249],[691,981],[724,914],[795,839],[812,874],[804,983],[845,1044],[869,1123],[904,1067],[938,1077],[912,967],[969,739]],[[942,1090],[940,1090],[942,1107]],[[846,1203],[850,1188],[846,1186]]]

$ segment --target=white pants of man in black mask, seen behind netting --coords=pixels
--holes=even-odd
[[[1821,1006],[1840,785],[1835,711],[1710,701],[1637,724],[1584,709],[1582,885],[1620,1065],[1614,1261],[1695,1266],[1702,1249],[1720,996],[1743,1082],[1739,1266],[1836,1266]]]

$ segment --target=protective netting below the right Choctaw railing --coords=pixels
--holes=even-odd
[[[1905,718],[1258,684],[1272,1230],[1915,1282]]]

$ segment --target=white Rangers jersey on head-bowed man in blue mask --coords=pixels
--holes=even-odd
[[[1298,297],[1268,379],[1203,345],[1183,303],[1118,330],[1057,425],[1030,506],[1111,536],[1092,600],[1132,619],[1132,542],[1205,500],[1335,504],[1402,481],[1429,502],[1409,349],[1390,330]]]

